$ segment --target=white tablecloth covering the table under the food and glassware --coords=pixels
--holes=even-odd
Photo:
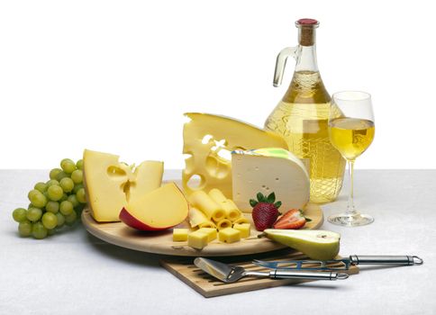
[[[205,299],[159,266],[81,225],[20,238],[11,212],[46,170],[0,170],[0,314],[436,314],[436,170],[359,170],[357,207],[373,224],[340,232],[341,255],[418,255],[423,266],[361,267],[346,281],[313,282]],[[169,171],[167,178],[179,172]],[[325,216],[344,209],[322,206]]]

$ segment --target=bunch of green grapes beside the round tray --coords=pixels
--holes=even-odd
[[[60,168],[50,170],[50,180],[36,183],[28,193],[29,207],[17,208],[13,218],[23,237],[46,238],[64,225],[71,226],[86,204],[83,186],[83,161],[69,158],[60,161]]]

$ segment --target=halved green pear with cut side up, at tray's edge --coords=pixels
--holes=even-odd
[[[269,239],[301,251],[311,259],[330,260],[339,253],[341,234],[330,230],[265,229],[263,234]]]

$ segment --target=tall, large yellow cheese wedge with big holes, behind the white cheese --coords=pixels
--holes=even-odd
[[[232,199],[231,152],[235,149],[286,148],[276,133],[224,116],[189,112],[183,130],[186,166],[182,173],[186,194],[220,189]],[[195,183],[195,178],[198,182]]]

